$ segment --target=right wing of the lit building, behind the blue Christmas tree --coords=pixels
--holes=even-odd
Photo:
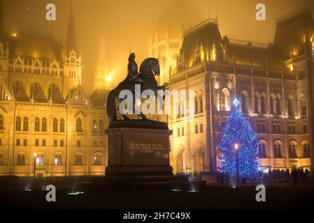
[[[279,19],[274,42],[264,46],[222,38],[213,20],[185,32],[170,89],[194,90],[197,109],[192,118],[169,116],[171,165],[176,173],[217,169],[217,145],[236,97],[257,131],[262,170],[311,168],[308,76],[314,70],[306,52],[313,51],[293,35],[306,36],[304,18],[309,21],[309,39],[314,33],[311,11],[300,10]],[[290,36],[285,35],[287,30]],[[298,50],[292,51],[291,45]]]

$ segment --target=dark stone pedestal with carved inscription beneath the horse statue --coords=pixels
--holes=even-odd
[[[167,123],[112,121],[108,134],[106,176],[171,176]]]

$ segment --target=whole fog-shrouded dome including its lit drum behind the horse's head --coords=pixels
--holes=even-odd
[[[149,47],[150,56],[159,58],[159,85],[169,83],[169,77],[176,72],[183,30],[206,20],[206,13],[201,12],[192,0],[176,0],[159,18]]]

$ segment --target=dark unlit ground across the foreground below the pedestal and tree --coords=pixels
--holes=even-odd
[[[231,188],[208,185],[200,192],[172,190],[87,190],[68,194],[57,187],[57,201],[45,201],[45,191],[0,189],[2,208],[313,208],[314,185],[266,185],[266,202],[255,200],[254,185]]]

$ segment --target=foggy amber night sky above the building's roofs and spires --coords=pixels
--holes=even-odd
[[[101,36],[106,40],[107,66],[117,84],[127,75],[130,47],[139,66],[148,57],[149,38],[159,18],[175,1],[185,6],[187,0],[72,0],[76,40],[84,66],[82,84],[86,92],[92,91]],[[56,5],[55,22],[45,20],[48,3]],[[314,12],[314,0],[190,0],[190,3],[198,9],[187,8],[190,15],[180,16],[192,17],[194,12],[200,12],[197,16],[205,20],[208,8],[211,17],[216,16],[217,10],[222,36],[266,44],[273,41],[276,17],[304,6],[311,7]],[[265,22],[255,20],[257,3],[266,5]],[[6,33],[18,34],[19,29],[50,33],[53,26],[55,38],[65,40],[70,0],[3,0],[2,8]]]

